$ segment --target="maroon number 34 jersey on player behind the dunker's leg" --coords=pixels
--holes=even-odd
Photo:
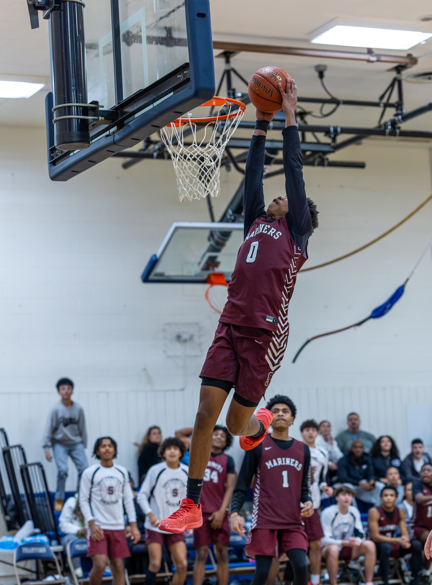
[[[233,458],[226,453],[211,453],[199,500],[203,514],[212,514],[222,505],[227,473],[236,473]]]

